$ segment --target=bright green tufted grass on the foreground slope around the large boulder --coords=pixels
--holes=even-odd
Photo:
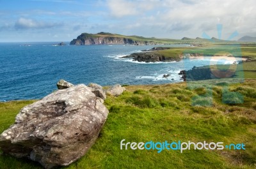
[[[97,142],[83,158],[62,168],[255,168],[256,80],[246,80],[243,84],[230,79],[205,80],[192,85],[131,85],[118,97],[108,96],[104,103],[109,109],[108,120]],[[222,94],[227,92],[223,87],[243,95],[244,103],[223,103]],[[1,131],[14,122],[21,107],[32,102],[1,103]],[[182,154],[166,150],[160,153],[120,150],[123,139],[125,142],[243,142],[246,150],[190,150]],[[5,155],[0,156],[0,166],[42,168],[37,163]]]

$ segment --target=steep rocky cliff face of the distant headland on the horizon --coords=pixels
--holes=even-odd
[[[154,41],[136,41],[131,38],[115,37],[113,34],[83,33],[70,41],[70,45],[156,45]]]

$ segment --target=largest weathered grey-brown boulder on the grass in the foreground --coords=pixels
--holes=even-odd
[[[107,116],[89,87],[69,87],[22,108],[15,124],[1,133],[0,147],[45,168],[67,166],[92,147]]]

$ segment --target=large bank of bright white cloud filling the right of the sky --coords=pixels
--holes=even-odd
[[[134,29],[139,33],[139,29],[144,30],[140,34],[143,36],[157,36],[152,34],[154,32],[164,38],[195,38],[203,31],[216,36],[216,24],[223,24],[224,39],[236,30],[241,34],[255,34],[254,0],[109,0],[107,4],[111,15],[130,25],[124,28],[130,29],[135,25]],[[132,20],[126,16],[132,16]],[[150,32],[148,27],[157,30]]]

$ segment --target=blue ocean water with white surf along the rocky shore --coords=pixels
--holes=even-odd
[[[90,82],[100,85],[177,83],[182,81],[178,75],[180,70],[208,65],[210,61],[204,58],[134,62],[120,57],[155,46],[52,44],[54,42],[0,43],[0,101],[40,99],[56,90],[56,82],[61,78],[86,85]],[[166,79],[164,74],[171,76]]]

